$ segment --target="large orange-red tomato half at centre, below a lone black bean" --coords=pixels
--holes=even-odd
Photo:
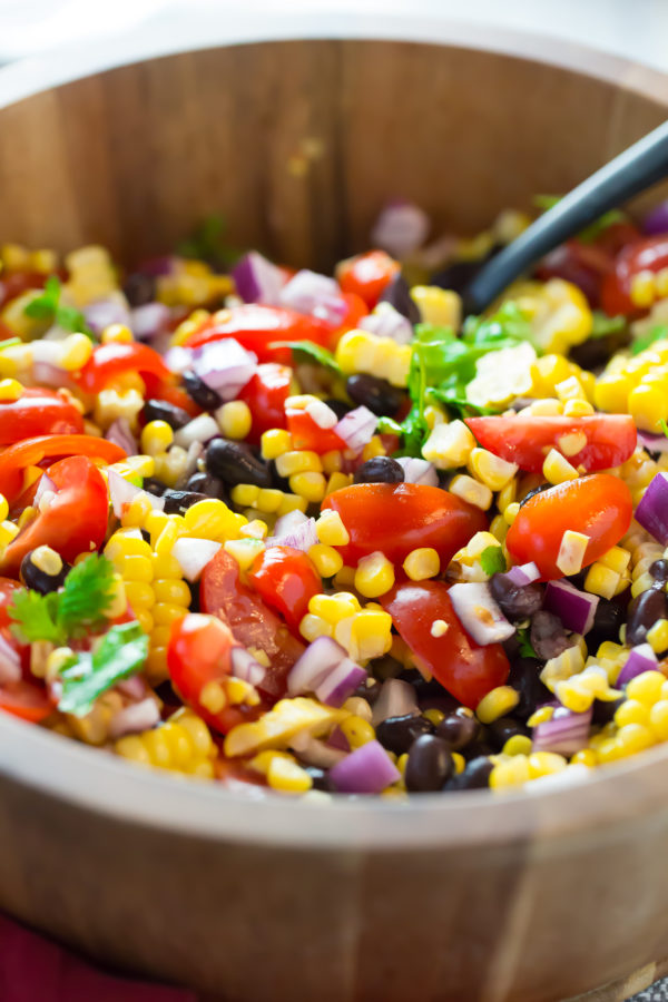
[[[475,532],[488,528],[479,508],[422,483],[356,483],[323,501],[342,518],[351,541],[337,549],[347,564],[381,550],[401,563],[411,550],[433,547],[443,567]]]

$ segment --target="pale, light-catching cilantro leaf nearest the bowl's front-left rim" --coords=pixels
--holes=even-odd
[[[78,717],[89,713],[98,696],[140,668],[147,655],[148,637],[138,622],[111,627],[92,652],[77,652],[61,670],[58,709]]]

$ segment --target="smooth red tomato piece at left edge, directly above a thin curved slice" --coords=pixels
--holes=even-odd
[[[79,411],[59,393],[30,387],[19,400],[0,401],[0,445],[36,435],[71,435],[84,431]]]

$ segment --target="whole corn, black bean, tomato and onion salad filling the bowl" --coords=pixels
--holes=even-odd
[[[668,203],[462,316],[528,223],[393,203],[334,277],[219,220],[129,272],[2,246],[0,709],[310,798],[668,740]]]

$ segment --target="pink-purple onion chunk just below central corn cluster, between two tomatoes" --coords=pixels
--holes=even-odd
[[[287,676],[291,696],[315,692],[321,703],[341,706],[366,672],[352,661],[345,649],[332,637],[317,637],[297,658]]]

